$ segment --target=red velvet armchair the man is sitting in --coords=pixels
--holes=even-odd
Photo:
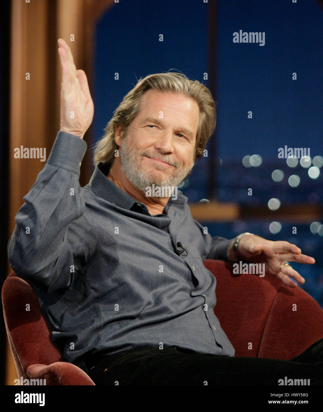
[[[236,352],[288,360],[323,338],[323,310],[301,288],[266,274],[232,273],[232,263],[204,260],[216,276],[215,314]],[[26,311],[26,304],[30,311]],[[296,310],[293,304],[296,304]],[[82,369],[63,362],[29,283],[12,272],[2,286],[7,335],[18,377],[46,379],[47,385],[94,385]],[[249,342],[252,343],[252,349]]]

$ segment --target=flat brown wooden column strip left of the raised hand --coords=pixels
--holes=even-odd
[[[42,170],[40,159],[15,159],[14,150],[23,147],[49,149],[47,119],[47,1],[12,1],[10,122],[9,122],[9,222],[11,236],[14,216]],[[28,80],[29,78],[29,80]],[[52,131],[54,133],[54,131]],[[8,239],[9,240],[9,239]],[[8,262],[8,273],[11,272]],[[6,384],[13,385],[16,369],[7,342]]]

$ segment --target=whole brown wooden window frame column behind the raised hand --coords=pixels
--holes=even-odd
[[[87,73],[91,90],[94,25],[112,4],[114,0],[12,0],[9,237],[15,226],[14,216],[24,203],[23,196],[45,164],[40,159],[16,159],[14,150],[21,146],[46,148],[47,159],[59,131],[61,65],[57,39],[63,37],[68,42],[76,67]],[[90,137],[91,128],[84,136],[88,149]],[[92,153],[87,152],[81,166],[82,186],[91,177],[91,160]],[[11,271],[8,262],[7,273]],[[13,385],[17,376],[8,341],[6,352],[6,384]]]

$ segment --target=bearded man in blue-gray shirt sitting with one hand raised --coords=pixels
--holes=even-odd
[[[208,89],[176,73],[140,80],[108,123],[81,188],[94,107],[85,73],[66,42],[59,46],[61,129],[16,215],[8,255],[33,283],[64,360],[96,384],[254,384],[260,375],[277,384],[287,373],[322,384],[319,356],[317,364],[304,363],[304,354],[302,363],[235,358],[213,312],[215,277],[203,265],[205,258],[264,263],[296,286],[288,276],[304,279],[285,261],[315,260],[253,234],[211,238],[180,191],[146,195],[152,185],[177,187],[201,157],[215,127]]]

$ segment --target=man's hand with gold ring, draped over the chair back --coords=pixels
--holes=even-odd
[[[229,247],[228,256],[232,256],[232,244]],[[279,268],[284,263],[284,260],[305,263],[306,265],[313,265],[315,263],[314,258],[303,255],[301,253],[302,250],[292,243],[281,240],[266,240],[257,235],[248,234],[241,236],[238,252],[241,260],[244,259],[250,263],[264,263],[266,273],[277,276],[283,283],[294,288],[297,286],[297,283],[289,279],[288,276],[299,283],[304,283],[305,279],[290,265],[285,265],[280,270]]]

